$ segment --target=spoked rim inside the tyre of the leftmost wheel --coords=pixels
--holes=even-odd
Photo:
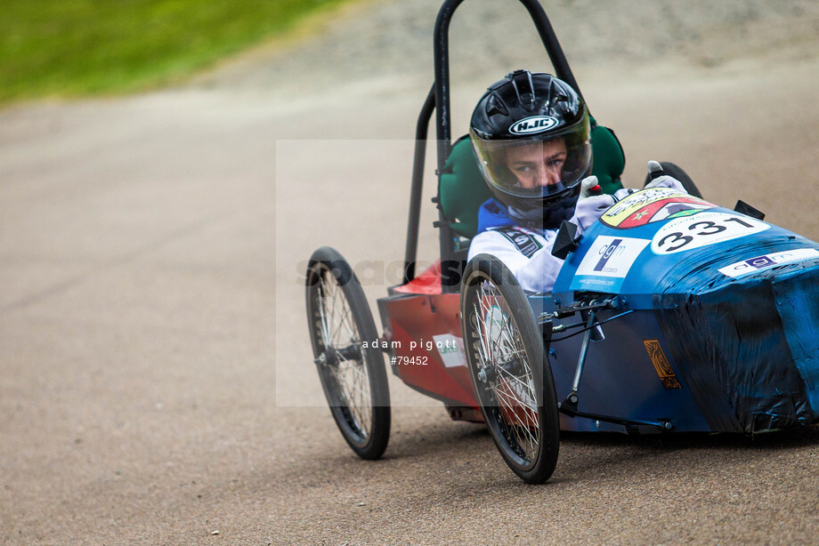
[[[320,269],[319,275],[316,303],[320,317],[320,357],[317,363],[325,387],[332,393],[331,405],[341,412],[350,432],[364,444],[370,435],[373,405],[367,351],[361,349],[361,334],[337,278],[326,267]]]

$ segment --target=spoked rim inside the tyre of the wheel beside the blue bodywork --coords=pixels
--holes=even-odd
[[[540,451],[539,397],[515,317],[499,289],[483,276],[475,285],[472,308],[482,405],[506,441],[507,454],[517,465],[530,467]]]

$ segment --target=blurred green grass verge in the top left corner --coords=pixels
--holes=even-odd
[[[345,0],[0,0],[0,103],[181,81]]]

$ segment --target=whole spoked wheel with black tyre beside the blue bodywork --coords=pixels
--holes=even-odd
[[[560,446],[555,383],[523,289],[489,254],[466,265],[461,327],[474,394],[495,446],[524,482],[542,484],[555,471]]]

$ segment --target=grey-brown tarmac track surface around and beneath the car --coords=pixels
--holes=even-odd
[[[0,112],[0,543],[815,544],[816,426],[564,435],[526,486],[482,426],[391,378],[385,457],[348,449],[301,276],[332,245],[372,309],[393,284],[437,10],[407,4],[355,4],[181,88]],[[497,4],[453,21],[458,134],[487,84],[548,68]],[[819,238],[815,3],[553,4],[627,186],[671,160],[710,201]]]

